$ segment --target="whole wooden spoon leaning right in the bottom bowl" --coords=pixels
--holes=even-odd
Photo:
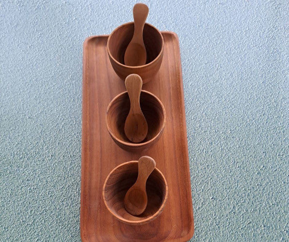
[[[125,208],[132,215],[140,215],[147,206],[146,180],[156,168],[156,162],[149,156],[142,156],[138,164],[138,178],[128,189],[125,196]]]

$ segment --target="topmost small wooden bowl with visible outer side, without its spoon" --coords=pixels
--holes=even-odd
[[[130,74],[138,74],[143,84],[150,81],[159,71],[163,56],[163,37],[154,26],[144,24],[144,46],[146,49],[146,64],[141,66],[125,65],[124,56],[127,46],[132,39],[134,23],[126,23],[110,34],[107,41],[107,51],[115,73],[123,80]]]

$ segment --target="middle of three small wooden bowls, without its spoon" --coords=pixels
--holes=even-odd
[[[159,140],[166,120],[164,106],[160,99],[149,91],[141,91],[140,105],[147,121],[148,132],[140,143],[131,142],[125,134],[125,122],[128,116],[130,102],[128,92],[122,92],[114,97],[107,107],[106,127],[114,142],[127,151],[144,151]]]

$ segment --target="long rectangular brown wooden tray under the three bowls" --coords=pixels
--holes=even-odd
[[[108,35],[92,36],[83,45],[83,100],[80,234],[82,241],[187,241],[193,236],[193,206],[180,52],[176,33],[163,31],[164,55],[159,73],[143,89],[157,95],[166,109],[160,140],[148,151],[119,148],[105,125],[107,106],[125,91],[106,50]],[[105,207],[102,186],[110,171],[143,155],[155,159],[168,183],[161,215],[142,225],[126,225]]]

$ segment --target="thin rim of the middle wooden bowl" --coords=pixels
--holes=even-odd
[[[141,92],[147,93],[147,94],[151,95],[153,98],[155,98],[155,99],[158,101],[158,103],[161,105],[161,109],[162,109],[162,113],[163,113],[163,123],[162,123],[162,126],[161,126],[161,129],[160,129],[159,133],[158,133],[156,136],[154,136],[152,139],[147,140],[146,142],[143,142],[143,143],[142,143],[142,142],[141,142],[141,143],[130,143],[130,142],[127,142],[127,141],[123,141],[123,140],[119,139],[118,137],[116,137],[116,136],[112,133],[112,130],[111,130],[109,124],[108,124],[107,116],[108,116],[108,112],[109,112],[109,110],[110,110],[113,102],[114,102],[116,99],[118,99],[120,96],[125,95],[126,93],[128,93],[128,91],[124,91],[124,92],[119,93],[118,95],[116,95],[116,96],[112,99],[112,101],[109,103],[109,105],[107,106],[107,109],[106,109],[105,124],[106,124],[106,128],[107,128],[108,132],[110,133],[110,135],[112,136],[112,138],[113,138],[114,140],[116,140],[117,142],[119,142],[119,143],[121,143],[121,144],[123,144],[123,145],[125,145],[125,146],[127,146],[127,147],[130,147],[130,148],[142,147],[142,146],[145,146],[145,145],[153,142],[155,139],[157,139],[157,138],[161,135],[161,133],[162,133],[162,131],[163,131],[163,129],[164,129],[164,126],[165,126],[165,124],[166,124],[166,112],[165,112],[165,108],[164,108],[161,100],[160,100],[155,94],[153,94],[153,93],[151,93],[151,92],[149,92],[149,91],[142,90]]]

